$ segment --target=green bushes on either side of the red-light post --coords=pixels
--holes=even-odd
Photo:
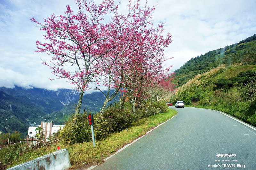
[[[92,140],[91,127],[88,123],[88,114],[72,115],[66,122],[66,126],[60,131],[60,138],[64,143],[83,143]],[[104,137],[112,132],[121,131],[129,127],[132,123],[130,111],[115,109],[110,107],[103,113],[96,113],[94,118],[94,135],[97,139]]]

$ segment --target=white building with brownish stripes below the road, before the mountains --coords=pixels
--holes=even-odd
[[[28,127],[28,140],[35,139],[36,128],[41,127],[43,129],[44,140],[47,140],[49,136],[52,136],[54,132],[61,130],[65,125],[53,125],[53,122],[41,122],[41,125]]]

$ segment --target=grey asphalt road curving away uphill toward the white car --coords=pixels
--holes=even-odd
[[[221,114],[177,115],[94,169],[256,169],[256,130]]]

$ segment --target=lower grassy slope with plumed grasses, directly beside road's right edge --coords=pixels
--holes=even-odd
[[[256,65],[221,64],[180,86],[171,101],[219,110],[256,126],[255,70]]]

